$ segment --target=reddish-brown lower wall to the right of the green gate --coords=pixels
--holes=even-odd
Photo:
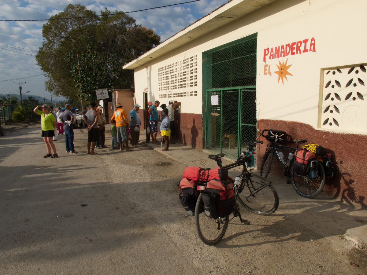
[[[364,144],[366,135],[320,131],[308,124],[280,120],[260,120],[258,128],[261,131],[269,128],[282,130],[293,139],[307,139],[307,143],[317,143],[325,147],[333,153],[336,173],[334,177],[326,180],[323,195],[328,198],[340,198],[353,205],[367,206],[367,147]],[[258,148],[258,166],[261,165],[268,143],[263,137],[261,140],[264,144]],[[288,145],[295,147],[295,144]],[[287,154],[284,156],[287,157]],[[272,173],[283,176],[286,181],[278,163],[273,165]]]

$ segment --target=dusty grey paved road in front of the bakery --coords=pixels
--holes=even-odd
[[[86,130],[75,132],[76,150],[85,152]],[[277,212],[241,208],[251,225],[234,219],[222,242],[206,246],[178,202],[181,162],[145,146],[70,155],[59,140],[57,149],[59,158],[42,157],[39,128],[0,137],[0,274],[367,272],[366,254],[334,226],[365,223],[345,214],[349,206],[305,205],[279,186]]]

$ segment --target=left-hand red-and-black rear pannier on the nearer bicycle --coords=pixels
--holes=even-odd
[[[197,201],[197,181],[185,177],[180,181],[181,192],[178,195],[180,202],[190,216],[194,216]]]

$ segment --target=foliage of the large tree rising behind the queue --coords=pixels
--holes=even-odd
[[[36,60],[47,73],[47,91],[89,100],[95,98],[95,89],[133,87],[133,73],[122,66],[159,44],[160,37],[127,14],[111,13],[105,9],[98,17],[85,6],[69,4],[51,19],[84,18],[43,25],[44,42]]]

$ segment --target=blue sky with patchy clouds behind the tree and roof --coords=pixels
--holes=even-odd
[[[47,19],[63,11],[68,4],[78,3],[100,14],[105,7],[110,11],[127,12],[187,1],[189,0],[1,0],[0,19]],[[138,24],[152,28],[162,42],[226,2],[228,0],[201,0],[129,15]],[[28,95],[39,95],[50,100],[50,92],[45,91],[44,87],[46,79],[40,75],[43,72],[33,56],[42,45],[42,25],[45,22],[0,21],[0,95],[19,94],[19,84],[13,82],[25,82],[22,84],[23,93],[30,91]],[[54,95],[52,99],[55,99]]]

